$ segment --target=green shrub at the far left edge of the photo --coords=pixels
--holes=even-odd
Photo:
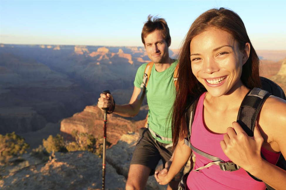
[[[7,162],[13,156],[19,156],[26,153],[30,145],[24,143],[25,139],[16,135],[15,132],[0,134],[0,162]]]

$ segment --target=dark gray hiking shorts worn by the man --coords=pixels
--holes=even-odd
[[[173,154],[172,146],[165,148],[166,145],[158,141],[155,141],[152,137],[149,129],[139,129],[140,137],[137,141],[135,151],[133,152],[132,160],[130,164],[140,164],[151,168],[149,175],[154,175],[156,166],[159,160],[162,159],[163,168],[165,163],[168,162]],[[179,181],[183,176],[184,167],[174,177],[172,181]]]

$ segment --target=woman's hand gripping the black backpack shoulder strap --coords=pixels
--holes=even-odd
[[[221,148],[233,163],[251,173],[262,163],[260,151],[264,141],[263,137],[257,127],[257,122],[255,122],[253,137],[249,137],[238,122],[233,122],[232,125],[233,128],[226,129],[227,134],[223,136]]]

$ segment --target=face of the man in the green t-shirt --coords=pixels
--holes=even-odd
[[[148,34],[145,38],[145,49],[154,63],[166,63],[169,60],[169,46],[159,30]]]

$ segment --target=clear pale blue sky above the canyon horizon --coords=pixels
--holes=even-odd
[[[286,49],[286,1],[0,1],[0,43],[142,46],[149,14],[165,18],[178,49],[204,11],[242,18],[255,49]]]

